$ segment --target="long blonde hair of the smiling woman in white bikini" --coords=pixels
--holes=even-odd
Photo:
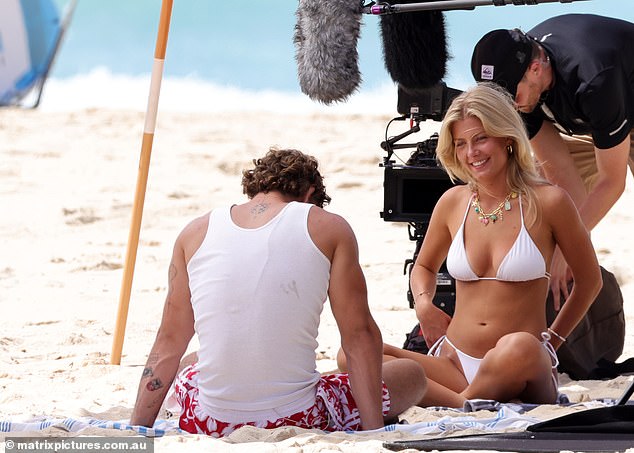
[[[539,215],[534,187],[547,182],[537,172],[524,122],[506,90],[493,83],[482,82],[453,100],[440,128],[436,148],[440,164],[452,181],[460,180],[469,184],[472,190],[478,190],[478,182],[458,160],[451,135],[453,124],[469,117],[478,118],[487,135],[511,141],[506,184],[510,191],[522,194],[527,204],[528,223],[534,223]]]

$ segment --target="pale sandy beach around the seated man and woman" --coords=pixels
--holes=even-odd
[[[355,230],[372,312],[384,340],[402,344],[415,321],[404,261],[414,243],[404,223],[384,222],[385,127],[391,116],[160,112],[156,129],[123,356],[110,364],[132,215],[144,114],[0,110],[0,422],[43,417],[129,418],[167,289],[167,265],[181,228],[210,209],[242,199],[240,172],[269,146],[316,156],[332,196],[329,210]],[[398,129],[401,127],[401,130]],[[395,126],[390,135],[401,132]],[[424,124],[425,134],[437,124]],[[426,138],[420,134],[419,139]],[[408,152],[399,154],[406,160]],[[601,264],[613,272],[628,319],[623,358],[634,357],[634,180],[593,232]],[[195,341],[190,345],[195,350]],[[318,369],[332,370],[339,335],[328,308]],[[572,401],[618,398],[632,377],[570,381]],[[575,410],[543,406],[532,416]],[[577,409],[578,410],[578,409]],[[409,423],[445,413],[412,408]],[[490,415],[490,414],[489,414]],[[165,417],[165,414],[161,415]],[[481,416],[481,415],[477,415]],[[38,436],[133,431],[51,427]],[[0,433],[0,444],[6,434]],[[403,432],[330,434],[283,428],[239,430],[226,440],[168,434],[156,451],[372,452]],[[632,449],[634,451],[634,449]]]

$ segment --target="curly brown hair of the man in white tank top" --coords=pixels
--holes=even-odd
[[[320,208],[330,203],[317,159],[296,149],[270,148],[264,157],[253,159],[255,168],[242,172],[242,192],[250,199],[258,193],[279,191],[302,198],[315,188],[310,202]]]

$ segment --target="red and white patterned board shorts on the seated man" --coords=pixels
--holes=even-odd
[[[223,437],[241,426],[273,429],[280,426],[317,428],[323,431],[358,431],[361,418],[352,396],[348,374],[322,376],[317,383],[315,404],[301,412],[277,420],[228,423],[205,414],[198,402],[198,373],[194,365],[186,367],[174,382],[174,393],[181,407],[179,427],[192,434]],[[390,409],[390,394],[383,384],[383,416]]]

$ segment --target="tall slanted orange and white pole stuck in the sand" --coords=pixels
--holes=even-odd
[[[150,156],[152,155],[152,142],[154,140],[156,114],[158,112],[158,100],[161,91],[161,80],[163,77],[163,65],[165,63],[165,50],[167,48],[167,36],[169,34],[171,16],[172,0],[163,0],[163,4],[161,5],[158,37],[156,38],[156,49],[154,51],[154,65],[152,67],[150,95],[145,114],[145,126],[143,128],[143,141],[141,143],[139,173],[137,176],[134,206],[132,208],[132,221],[130,223],[128,247],[126,251],[125,265],[123,268],[121,293],[119,295],[119,309],[117,311],[117,322],[112,341],[110,363],[113,365],[119,365],[121,363],[121,351],[123,350],[125,326],[128,320],[128,307],[130,305],[130,293],[132,291],[132,279],[134,277],[136,253],[139,246],[139,232],[141,231],[141,218],[143,217],[143,203],[145,201],[145,190],[147,187],[147,179],[150,168]]]

